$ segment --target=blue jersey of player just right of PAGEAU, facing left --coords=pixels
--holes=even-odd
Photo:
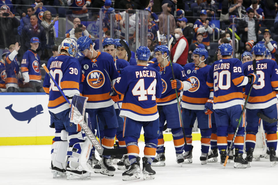
[[[161,75],[163,89],[161,97],[156,99],[157,105],[169,105],[177,103],[176,92],[175,89],[172,89],[170,82],[170,79],[173,79],[170,62],[168,62],[168,64],[165,66],[165,69],[160,66],[160,63],[150,64],[149,67],[153,67]],[[173,63],[173,71],[176,79],[179,79],[181,81],[185,81],[188,79],[187,76],[184,74],[184,69],[180,64]],[[178,95],[180,95],[180,90],[178,90]]]

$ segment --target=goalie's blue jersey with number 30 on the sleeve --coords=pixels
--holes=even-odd
[[[78,60],[71,56],[59,55],[47,67],[63,93],[68,97],[80,95],[81,66]],[[49,95],[48,110],[54,114],[69,109],[69,105],[59,92],[52,79],[46,74],[43,90]]]

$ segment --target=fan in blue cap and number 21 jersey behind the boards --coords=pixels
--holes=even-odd
[[[21,61],[21,73],[26,92],[41,92],[41,59],[37,53],[39,38],[33,37],[30,40],[31,49],[27,50]]]

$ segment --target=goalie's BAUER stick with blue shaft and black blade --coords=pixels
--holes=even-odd
[[[48,74],[48,76],[52,79],[54,84],[57,86],[57,88],[60,91],[61,95],[65,98],[67,103],[69,103],[69,107],[70,107],[71,103],[69,102],[69,100],[67,99],[67,97],[65,96],[65,94],[63,93],[63,91],[61,90],[61,88],[59,87],[57,82],[55,81],[55,79],[52,77],[52,75],[50,74],[50,72],[47,69],[47,67],[45,66],[45,64],[42,64],[41,66],[43,67],[45,72]],[[84,123],[80,123],[79,125],[82,128],[82,130],[85,132],[85,134],[89,138],[90,142],[94,145],[94,147],[96,148],[96,150],[98,151],[98,153],[100,155],[110,156],[110,155],[127,154],[127,149],[126,148],[117,148],[117,149],[106,149],[106,148],[103,148],[100,145],[100,143],[96,139],[95,135],[93,134],[92,130],[89,128],[89,126],[87,125],[87,123],[85,121],[84,121]]]

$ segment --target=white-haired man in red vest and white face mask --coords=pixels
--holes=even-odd
[[[182,29],[175,29],[176,43],[171,49],[171,58],[174,63],[185,65],[188,56],[188,42],[184,35],[182,34]]]

